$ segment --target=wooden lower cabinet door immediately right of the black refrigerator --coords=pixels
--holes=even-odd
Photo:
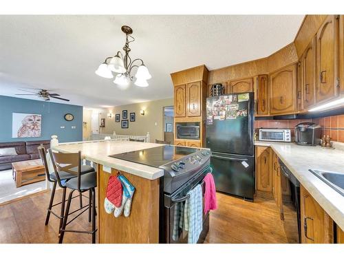
[[[272,155],[270,147],[256,147],[256,180],[257,190],[272,191]]]

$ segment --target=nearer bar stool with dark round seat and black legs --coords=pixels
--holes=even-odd
[[[58,185],[63,189],[70,189],[67,206],[65,209],[65,215],[63,216],[63,224],[61,227],[61,234],[58,239],[58,243],[62,244],[63,237],[65,232],[72,232],[72,233],[87,233],[92,234],[92,244],[96,243],[96,186],[97,186],[97,177],[96,172],[89,172],[82,174],[81,173],[81,152],[78,153],[55,153],[52,152],[51,149],[48,150],[50,153],[50,158],[52,159],[52,166],[54,167],[54,172],[56,174],[56,180]],[[63,173],[71,173],[76,175],[76,178],[71,178],[65,182],[65,184],[61,183],[60,175]],[[71,214],[76,213],[76,211],[80,211],[82,208],[79,208],[76,211],[72,211],[69,213],[70,204],[73,199],[74,191],[78,191],[78,193],[84,193],[85,191],[89,191],[89,204],[83,206],[86,207],[85,210],[81,211],[78,215],[76,215],[73,219],[71,219],[68,223],[68,216]],[[66,230],[66,226],[71,223],[76,217],[83,214],[87,209],[89,210],[92,207],[92,230]]]

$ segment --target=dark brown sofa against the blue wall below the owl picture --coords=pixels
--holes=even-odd
[[[12,162],[23,160],[36,160],[39,158],[37,147],[43,144],[45,149],[50,148],[50,140],[35,140],[30,142],[2,142],[2,148],[15,148],[17,155],[0,156],[0,171],[5,169],[12,169]]]

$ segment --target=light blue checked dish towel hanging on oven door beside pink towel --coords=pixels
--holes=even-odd
[[[184,206],[184,228],[189,231],[188,243],[196,244],[202,232],[202,186],[198,184],[189,191]]]

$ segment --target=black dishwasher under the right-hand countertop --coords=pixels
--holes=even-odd
[[[281,166],[281,171],[286,178],[288,178],[290,182],[290,191],[292,194],[292,204],[294,204],[294,208],[297,211],[297,230],[299,232],[299,243],[301,243],[301,208],[300,208],[300,182],[295,178],[292,172],[288,169],[288,167],[283,164],[283,162],[279,159],[279,165]]]

